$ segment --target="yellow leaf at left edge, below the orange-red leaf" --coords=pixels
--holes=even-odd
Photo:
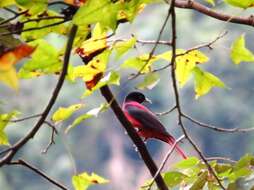
[[[14,90],[19,89],[17,72],[13,66],[11,66],[8,70],[0,70],[0,82]]]

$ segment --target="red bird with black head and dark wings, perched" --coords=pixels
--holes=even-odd
[[[126,118],[136,129],[138,135],[144,138],[144,141],[155,138],[172,146],[176,142],[175,138],[166,131],[158,117],[142,105],[145,102],[151,103],[151,100],[143,93],[138,91],[129,93],[122,104],[122,110]],[[178,145],[175,145],[175,149],[183,159],[187,159],[187,156]]]

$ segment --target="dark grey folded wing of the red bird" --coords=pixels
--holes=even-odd
[[[135,120],[139,121],[145,129],[168,134],[162,123],[150,111],[142,110],[136,106],[127,106],[125,111]]]

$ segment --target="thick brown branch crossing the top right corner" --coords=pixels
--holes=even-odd
[[[244,24],[249,26],[254,26],[254,16],[250,15],[249,17],[237,17],[233,15],[227,15],[214,11],[198,2],[193,0],[176,0],[175,6],[183,9],[193,9],[207,16],[213,17],[217,20],[232,22],[236,24]]]

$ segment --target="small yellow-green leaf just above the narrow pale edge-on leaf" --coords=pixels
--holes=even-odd
[[[52,121],[60,122],[68,119],[75,111],[83,107],[83,104],[74,104],[69,107],[58,108],[52,116]]]

